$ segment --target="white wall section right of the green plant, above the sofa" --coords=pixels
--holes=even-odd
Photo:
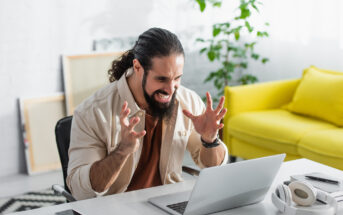
[[[263,2],[260,18],[270,23],[270,38],[257,48],[270,62],[252,62],[249,72],[270,81],[300,78],[310,65],[343,71],[343,1]]]

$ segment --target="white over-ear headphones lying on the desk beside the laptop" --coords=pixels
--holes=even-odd
[[[316,199],[327,204],[313,205]],[[292,200],[296,205],[292,205]],[[280,212],[287,215],[330,215],[337,211],[334,197],[306,181],[294,181],[288,186],[278,185],[272,194],[272,202]]]

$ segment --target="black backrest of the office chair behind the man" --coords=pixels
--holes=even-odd
[[[63,170],[63,181],[64,189],[70,193],[70,190],[66,183],[67,170],[68,170],[68,149],[70,144],[70,130],[71,121],[73,116],[67,116],[60,119],[55,127],[56,143],[58,148],[58,153],[60,155],[62,170]]]

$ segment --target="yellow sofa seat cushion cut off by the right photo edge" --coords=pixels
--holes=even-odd
[[[298,152],[306,158],[343,169],[343,129],[306,134],[299,141]]]

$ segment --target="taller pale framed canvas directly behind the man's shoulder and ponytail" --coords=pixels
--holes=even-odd
[[[123,52],[63,56],[67,115],[84,99],[109,83],[107,71]]]

